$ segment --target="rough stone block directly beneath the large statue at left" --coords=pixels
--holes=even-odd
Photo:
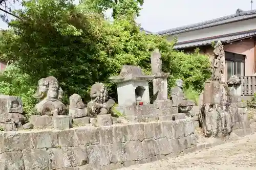
[[[53,128],[52,116],[31,115],[30,122],[32,123],[35,129],[52,129]]]

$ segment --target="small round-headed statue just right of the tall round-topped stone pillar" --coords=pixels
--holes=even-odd
[[[189,111],[193,108],[195,103],[185,98],[183,93],[183,81],[181,79],[176,80],[176,87],[172,88],[171,96],[174,106],[178,106],[179,113],[190,115]]]

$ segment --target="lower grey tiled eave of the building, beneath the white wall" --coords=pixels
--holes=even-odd
[[[188,48],[188,47],[195,47],[195,46],[203,46],[203,45],[210,45],[212,41],[218,41],[220,40],[223,43],[228,43],[228,42],[233,42],[237,40],[242,40],[245,38],[250,38],[256,35],[255,32],[250,32],[250,33],[244,33],[240,35],[231,35],[231,36],[226,36],[226,37],[217,37],[214,39],[206,39],[202,41],[194,41],[194,42],[186,42],[186,43],[178,43],[177,45],[174,46],[175,49],[181,49],[181,48]]]

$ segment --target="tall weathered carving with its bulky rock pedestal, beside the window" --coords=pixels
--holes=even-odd
[[[200,99],[199,122],[207,137],[228,136],[233,130],[232,101],[224,74],[225,52],[218,41],[211,57],[211,78],[205,82]]]

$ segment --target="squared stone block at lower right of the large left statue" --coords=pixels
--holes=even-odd
[[[53,127],[58,130],[72,128],[72,117],[67,115],[53,116]]]

